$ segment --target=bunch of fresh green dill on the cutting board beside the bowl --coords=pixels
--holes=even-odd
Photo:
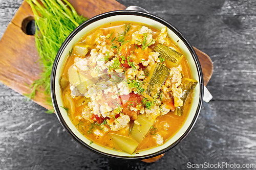
[[[67,0],[26,0],[35,18],[35,45],[42,72],[26,94],[33,99],[36,91],[44,91],[47,104],[52,106],[50,80],[54,59],[63,41],[87,18],[79,16]]]

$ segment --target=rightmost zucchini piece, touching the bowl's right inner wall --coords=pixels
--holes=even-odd
[[[194,88],[196,87],[197,85],[197,81],[196,80],[193,80],[193,79],[189,79],[189,78],[185,78],[183,77],[181,79],[181,89],[182,91],[184,91],[185,93],[183,94],[181,100],[183,101],[183,106],[185,104],[185,101],[187,99],[187,96],[188,94],[194,90]],[[175,111],[174,111],[174,114],[176,115],[179,115],[179,116],[182,116],[183,115],[183,106],[181,107],[176,107]]]

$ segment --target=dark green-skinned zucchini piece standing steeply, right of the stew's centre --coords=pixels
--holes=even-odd
[[[154,97],[160,91],[160,88],[169,75],[169,72],[170,69],[168,67],[162,63],[156,63],[150,71],[150,76],[147,78],[149,81],[145,93]],[[146,96],[144,97],[146,98]]]

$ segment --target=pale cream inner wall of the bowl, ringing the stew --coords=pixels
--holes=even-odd
[[[66,46],[65,50],[63,50],[63,53],[60,56],[60,60],[58,62],[57,68],[56,68],[56,77],[55,77],[55,80],[54,80],[55,81],[55,95],[56,95],[56,101],[57,101],[57,104],[58,104],[57,107],[60,110],[61,116],[65,120],[65,122],[68,125],[68,127],[70,128],[70,130],[77,136],[77,138],[82,140],[84,143],[87,143],[88,145],[90,144],[91,140],[86,138],[85,136],[83,136],[77,130],[77,128],[72,124],[70,118],[67,116],[66,110],[62,108],[63,104],[62,104],[62,100],[61,100],[61,91],[60,91],[59,79],[60,79],[60,76],[61,76],[62,67],[65,64],[65,61],[68,57],[69,51],[71,51],[71,49],[72,49],[72,46],[77,41],[79,41],[80,38],[82,38],[84,35],[89,33],[91,30],[93,30],[95,28],[98,28],[99,26],[103,25],[104,23],[110,23],[110,22],[114,22],[114,21],[141,22],[141,23],[145,23],[146,25],[150,25],[152,27],[155,27],[159,30],[161,30],[164,27],[164,25],[162,25],[162,23],[159,23],[158,21],[155,21],[155,20],[150,19],[150,18],[145,18],[145,17],[142,17],[142,16],[135,16],[135,15],[111,16],[111,17],[107,17],[107,18],[104,18],[104,19],[97,20],[97,21],[91,23],[90,25],[88,25],[87,27],[83,28],[81,31],[79,31],[71,39],[71,41]],[[191,71],[192,71],[192,74],[193,74],[193,79],[200,82],[197,67],[196,67],[196,63],[195,63],[192,55],[190,54],[190,51],[188,50],[187,46],[184,44],[184,42],[172,30],[168,29],[167,32],[168,32],[169,37],[172,38],[175,42],[177,42],[177,40],[179,40],[177,42],[177,44],[179,45],[179,47],[181,48],[181,50],[183,51],[183,53],[186,56],[186,59],[187,59],[189,65],[190,65],[190,68],[191,68]],[[163,150],[163,149],[169,147],[169,145],[173,144],[175,141],[177,141],[186,132],[186,130],[188,129],[190,124],[193,122],[193,119],[195,117],[197,107],[199,105],[199,99],[200,99],[200,85],[198,84],[196,86],[195,90],[194,90],[194,100],[193,100],[193,104],[191,106],[189,115],[186,119],[186,122],[184,123],[182,128],[172,138],[170,138],[168,141],[166,141],[163,145],[152,148],[150,150],[140,151],[139,154],[134,153],[132,155],[127,154],[125,152],[120,152],[120,151],[115,151],[113,149],[108,149],[108,148],[102,147],[101,145],[98,145],[96,143],[92,143],[91,147],[93,147],[94,149],[99,150],[101,152],[104,152],[106,154],[112,154],[112,155],[117,155],[117,156],[125,156],[125,157],[145,156],[145,155],[153,154],[153,153],[156,153],[160,150]]]

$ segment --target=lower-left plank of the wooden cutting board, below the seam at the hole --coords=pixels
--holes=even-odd
[[[0,81],[20,94],[28,93],[26,84],[32,84],[41,72],[34,36],[26,35],[10,22],[0,41],[0,51]],[[44,93],[37,92],[33,101],[52,109],[46,104]]]

